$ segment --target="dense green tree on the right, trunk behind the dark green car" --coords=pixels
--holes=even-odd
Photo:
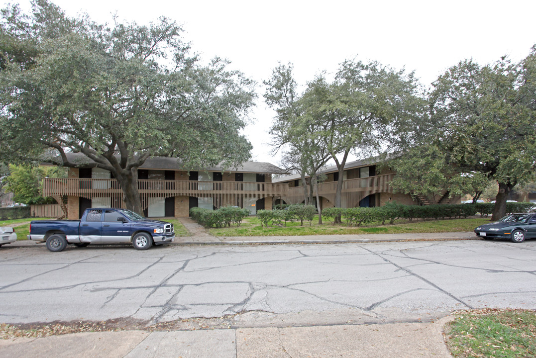
[[[480,66],[473,60],[449,68],[428,94],[421,135],[400,146],[390,163],[393,186],[412,194],[483,191],[498,182],[494,219],[504,215],[509,191],[534,180],[536,169],[536,45],[519,63],[506,57]],[[406,128],[405,136],[414,133]]]

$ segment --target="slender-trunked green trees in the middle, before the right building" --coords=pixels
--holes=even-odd
[[[410,123],[425,108],[413,73],[378,62],[346,60],[334,81],[318,75],[302,94],[292,70],[292,64],[274,69],[264,82],[264,97],[277,113],[271,128],[274,146],[288,144],[284,162],[312,178],[306,203],[312,199],[316,173],[330,157],[342,168],[351,152],[367,156],[381,151],[387,138],[411,138],[400,136],[400,128],[414,128]],[[340,207],[342,181],[337,185],[335,206]]]

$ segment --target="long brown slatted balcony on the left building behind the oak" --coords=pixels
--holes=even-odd
[[[286,196],[287,184],[242,181],[138,180],[142,196],[172,197],[234,195],[240,197]],[[122,195],[115,179],[47,178],[43,181],[43,196],[111,196]]]

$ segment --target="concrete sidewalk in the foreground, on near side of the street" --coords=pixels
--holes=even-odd
[[[0,356],[26,358],[451,357],[434,323],[73,333],[0,340]]]

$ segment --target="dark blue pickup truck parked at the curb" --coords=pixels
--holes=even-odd
[[[131,242],[138,250],[171,242],[175,238],[173,224],[146,219],[125,209],[91,208],[80,220],[34,220],[28,239],[46,242],[52,252],[68,244],[78,247],[90,243]]]

